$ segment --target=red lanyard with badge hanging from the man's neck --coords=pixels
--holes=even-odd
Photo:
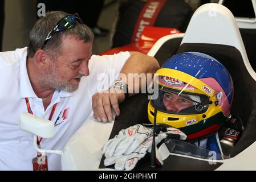
[[[27,111],[30,114],[33,114],[32,109],[30,107],[29,104],[29,99],[26,98],[26,104],[27,104]],[[56,109],[56,105],[55,104],[51,110],[51,114],[48,120],[51,121],[52,119],[52,115],[54,115],[54,111]],[[36,138],[36,143],[38,145],[38,148],[40,148],[40,142],[42,141],[42,138],[40,138],[40,140],[38,139],[38,137]],[[37,152],[37,155],[35,158],[32,159],[32,164],[33,164],[33,170],[34,171],[48,171],[48,161],[47,161],[47,155],[43,155],[40,152]]]

